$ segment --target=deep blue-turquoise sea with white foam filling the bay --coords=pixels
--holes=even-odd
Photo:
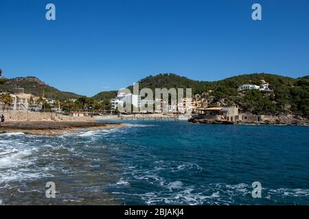
[[[309,127],[130,123],[0,134],[0,204],[309,204]],[[56,198],[45,197],[47,181]]]

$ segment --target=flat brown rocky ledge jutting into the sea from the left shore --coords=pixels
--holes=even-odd
[[[23,132],[25,134],[58,136],[78,129],[108,129],[124,127],[122,123],[93,121],[8,121],[0,127],[0,133]]]

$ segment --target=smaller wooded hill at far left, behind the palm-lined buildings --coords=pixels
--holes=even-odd
[[[16,77],[7,79],[5,83],[0,84],[0,92],[16,92],[18,88],[23,88],[25,93],[33,94],[34,96],[44,96],[48,99],[77,99],[78,94],[72,92],[62,92],[56,88],[47,85],[36,77]]]

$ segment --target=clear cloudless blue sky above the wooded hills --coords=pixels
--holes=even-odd
[[[56,21],[45,5],[56,5]],[[262,5],[262,21],[251,5]],[[309,73],[309,1],[0,0],[0,68],[92,96],[157,73]]]

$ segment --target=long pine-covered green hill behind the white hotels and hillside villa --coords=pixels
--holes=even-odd
[[[260,90],[249,90],[238,92],[238,88],[245,83],[260,85],[261,80],[269,83],[271,93]],[[238,105],[244,112],[253,114],[279,114],[292,113],[309,115],[309,75],[293,79],[281,75],[265,73],[254,73],[238,75],[220,81],[195,81],[187,77],[175,74],[159,74],[139,82],[139,89],[142,88],[192,88],[193,94],[207,93],[212,101],[209,106]],[[128,87],[132,90],[132,86]],[[117,91],[100,92],[93,96],[93,99],[113,98]]]

